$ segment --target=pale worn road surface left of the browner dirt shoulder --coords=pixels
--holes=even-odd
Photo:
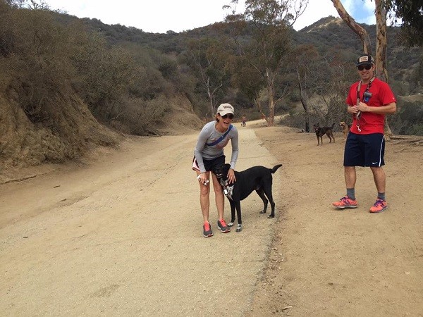
[[[276,219],[259,215],[255,195],[243,205],[244,231],[223,234],[213,202],[215,235],[202,236],[196,138],[133,139],[90,166],[2,185],[0,311],[241,316],[250,309]],[[254,130],[240,139],[240,169],[277,163]]]

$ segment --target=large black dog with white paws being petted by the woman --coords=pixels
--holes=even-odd
[[[264,209],[260,213],[266,213],[267,204],[270,201],[271,213],[267,218],[274,218],[275,216],[275,203],[271,194],[272,174],[280,168],[282,164],[274,166],[274,168],[266,168],[264,166],[253,166],[242,172],[235,171],[236,181],[228,185],[227,175],[231,167],[230,164],[217,166],[214,170],[217,179],[223,187],[223,192],[229,199],[231,204],[231,223],[229,227],[233,226],[235,221],[235,209],[238,219],[238,226],[236,232],[243,229],[243,220],[241,218],[241,204],[240,201],[247,198],[253,190],[259,194],[264,204]],[[267,198],[266,198],[267,197]],[[269,199],[269,200],[268,200]]]

